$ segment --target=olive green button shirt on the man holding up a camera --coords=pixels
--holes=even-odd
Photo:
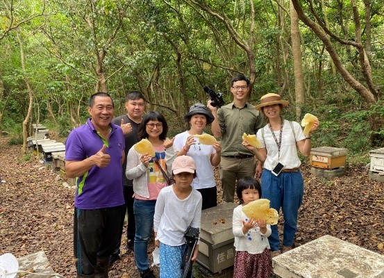
[[[237,108],[233,102],[217,111],[217,120],[222,130],[222,156],[254,155],[242,145],[242,135],[256,134],[265,125],[262,113],[246,103]]]

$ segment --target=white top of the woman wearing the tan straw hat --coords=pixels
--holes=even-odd
[[[283,137],[281,138],[280,158],[278,158],[278,147],[271,129],[268,124],[262,129],[264,130],[264,138],[262,136],[262,129],[257,133],[258,140],[260,140],[262,147],[267,148],[267,159],[265,160],[264,167],[267,170],[272,170],[278,162],[285,165],[285,169],[298,168],[301,165],[299,156],[297,155],[296,142],[305,140],[303,130],[298,122],[292,122],[294,131],[291,129],[290,122],[284,120]],[[274,131],[276,140],[280,138],[280,131]]]

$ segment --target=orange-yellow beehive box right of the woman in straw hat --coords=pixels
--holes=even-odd
[[[347,162],[347,149],[336,147],[317,147],[310,151],[310,165],[322,169],[344,167]]]

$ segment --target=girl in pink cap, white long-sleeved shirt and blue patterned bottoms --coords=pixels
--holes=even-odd
[[[172,163],[175,183],[162,188],[155,207],[153,227],[155,244],[160,249],[160,278],[178,278],[187,250],[184,233],[188,227],[200,229],[202,198],[191,184],[196,177],[196,164],[190,156],[178,156]],[[197,258],[196,246],[192,261]]]

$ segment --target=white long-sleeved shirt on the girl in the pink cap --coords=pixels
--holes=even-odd
[[[155,206],[153,228],[158,233],[156,240],[170,246],[185,243],[184,232],[188,226],[200,228],[203,198],[196,189],[185,199],[178,199],[174,186],[160,190]]]

